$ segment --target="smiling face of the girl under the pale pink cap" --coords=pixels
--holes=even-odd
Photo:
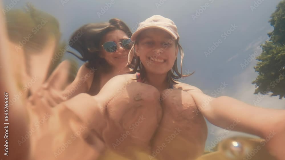
[[[135,45],[137,55],[147,72],[165,74],[174,65],[178,47],[174,38],[161,29],[146,29]]]

